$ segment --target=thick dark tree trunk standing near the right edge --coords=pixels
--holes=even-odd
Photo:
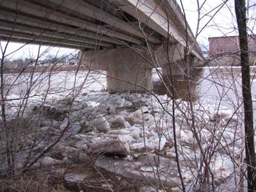
[[[244,102],[244,133],[245,154],[248,175],[248,191],[256,191],[256,157],[254,148],[253,108],[252,93],[250,87],[250,65],[248,56],[248,40],[246,31],[246,6],[245,0],[235,0],[237,26],[239,30],[239,42],[241,50],[241,69],[243,83]]]

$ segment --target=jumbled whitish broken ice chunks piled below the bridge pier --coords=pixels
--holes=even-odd
[[[15,95],[10,95],[8,99],[14,98]],[[65,99],[67,100],[67,96],[64,94],[50,95],[47,97],[45,106],[64,111],[68,106],[68,104],[63,105],[62,101]],[[29,98],[29,106],[40,108],[42,100],[42,96],[31,97]],[[10,100],[10,103],[17,106],[20,104],[20,100]],[[202,152],[212,156],[209,159],[209,164],[217,180],[223,180],[232,175],[234,165],[230,157],[234,158],[234,161],[238,161],[242,143],[240,129],[238,127],[234,129],[237,122],[237,116],[233,114],[234,111],[222,106],[195,104],[194,129],[188,103],[181,100],[176,100],[175,103],[174,125],[177,148],[179,161],[182,164],[182,177],[184,177],[186,185],[195,182],[195,178],[204,172]],[[12,105],[10,105],[10,109],[12,109]],[[152,179],[154,177],[150,175],[151,173],[161,172],[163,173],[161,180],[173,177],[174,180],[179,181],[177,167],[168,166],[169,161],[172,161],[172,164],[177,161],[173,140],[172,107],[172,99],[166,95],[82,93],[72,103],[71,125],[68,128],[68,134],[75,138],[76,143],[73,142],[70,146],[69,141],[61,141],[56,151],[61,151],[63,161],[67,161],[67,158],[70,158],[72,153],[77,151],[93,153],[99,150],[110,154],[122,154],[129,159],[126,164],[129,164],[129,161],[135,161],[140,169],[140,172],[137,173],[136,168],[131,166],[131,170],[128,169],[125,174],[120,172],[121,175],[124,174],[124,177],[130,177],[127,173],[131,171],[132,173],[136,172],[137,176],[144,174],[145,177]],[[52,123],[49,124],[51,132],[56,135],[63,131],[61,126],[67,125],[65,122],[67,122],[68,114],[67,112],[63,112],[63,114],[63,121],[61,122],[59,119],[56,122],[56,127],[52,127]],[[51,119],[49,121],[51,122]],[[47,125],[47,121],[44,123],[45,125]],[[83,125],[86,125],[86,129],[90,131],[84,131]],[[44,126],[40,128],[42,131],[45,131]],[[195,134],[198,135],[199,144]],[[200,151],[200,147],[203,151]],[[67,152],[67,148],[70,152]],[[216,152],[213,152],[214,150]],[[161,156],[158,156],[159,154]],[[139,161],[144,162],[141,159],[148,155],[152,156],[153,159],[160,157],[163,164],[153,166],[152,164],[139,163]],[[48,164],[56,162],[50,158],[44,159],[44,161]],[[123,160],[115,159],[115,161],[121,162]],[[108,170],[100,163],[105,162],[104,160],[99,159],[97,162],[100,168]],[[111,166],[109,165],[109,167]],[[111,170],[108,171],[111,172]],[[76,176],[76,178],[78,177]],[[67,178],[70,180],[69,176]],[[71,180],[76,180],[76,178]],[[138,178],[141,179],[139,176]],[[166,184],[173,187],[179,186],[178,183],[173,185],[173,183],[166,182]]]

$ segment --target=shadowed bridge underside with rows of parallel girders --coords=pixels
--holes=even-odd
[[[0,3],[0,38],[89,50],[145,45],[145,38],[150,44],[165,40],[120,9],[128,6],[122,2],[4,0]]]

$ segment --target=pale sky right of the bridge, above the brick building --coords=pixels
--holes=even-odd
[[[198,35],[199,44],[208,44],[208,38],[213,36],[230,36],[237,35],[236,13],[234,8],[234,0],[198,0],[199,5],[203,6],[200,9],[199,31],[202,32]],[[249,0],[250,5],[256,3],[256,0]],[[198,24],[198,8],[196,0],[182,0],[186,18],[193,33],[196,33]],[[180,0],[177,0],[180,4]],[[181,7],[181,4],[180,4]],[[248,12],[248,27],[255,33],[255,6],[250,8]],[[206,25],[206,26],[205,26]]]

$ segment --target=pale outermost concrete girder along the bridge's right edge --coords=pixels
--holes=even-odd
[[[120,0],[121,1],[121,0]],[[204,60],[204,56],[200,51],[197,43],[194,44],[190,36],[193,36],[191,31],[186,30],[186,26],[183,26],[182,31],[177,28],[177,22],[170,17],[169,13],[164,10],[163,4],[156,3],[154,0],[127,0],[129,4],[125,3],[120,5],[120,8],[129,13],[133,17],[136,17],[140,22],[145,23],[148,27],[156,30],[165,38],[170,38],[172,42],[179,42],[180,44],[188,45],[189,49],[192,49],[192,54],[195,54],[200,60]],[[164,1],[165,3],[172,4],[172,2]],[[180,12],[176,11],[175,13]],[[179,13],[180,15],[180,13]],[[177,19],[176,19],[177,20]],[[184,21],[184,19],[182,19]],[[178,23],[180,25],[180,23]],[[184,22],[182,23],[184,24]],[[185,31],[185,33],[184,33]],[[189,33],[189,39],[186,39],[186,31]],[[193,38],[195,38],[193,36]]]

